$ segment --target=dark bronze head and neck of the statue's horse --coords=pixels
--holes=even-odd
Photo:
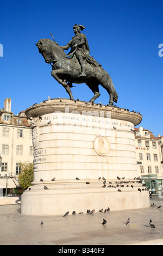
[[[55,62],[55,60],[66,56],[62,48],[50,39],[40,39],[36,46],[39,48],[39,52],[42,54],[46,63]]]

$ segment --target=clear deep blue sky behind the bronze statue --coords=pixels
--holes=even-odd
[[[66,45],[78,23],[85,26],[90,55],[112,78],[117,106],[139,111],[139,126],[163,136],[162,0],[1,1],[0,22],[0,109],[6,97],[11,97],[14,114],[48,96],[68,97],[35,43],[52,39],[53,33],[59,45]],[[95,102],[106,105],[109,95],[101,86],[99,91]],[[85,101],[93,96],[85,84],[77,84],[72,93]]]

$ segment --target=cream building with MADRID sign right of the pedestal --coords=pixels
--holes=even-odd
[[[146,186],[158,190],[163,177],[161,139],[141,126],[135,131],[137,175],[146,179]]]

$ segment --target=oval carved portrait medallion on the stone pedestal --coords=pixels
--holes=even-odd
[[[110,149],[108,139],[103,136],[98,136],[94,141],[94,149],[99,156],[106,156]]]

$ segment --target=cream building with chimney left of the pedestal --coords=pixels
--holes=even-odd
[[[4,107],[0,110],[0,186],[16,187],[16,179],[20,162],[33,162],[32,129],[24,111],[14,115],[11,112],[11,99],[4,100]]]

